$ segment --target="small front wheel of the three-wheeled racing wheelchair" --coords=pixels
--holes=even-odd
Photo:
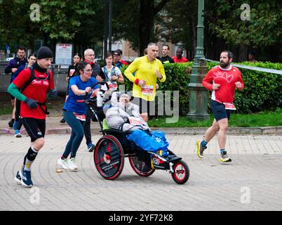
[[[173,165],[173,170],[174,172],[171,174],[171,176],[173,176],[173,180],[177,184],[185,184],[188,181],[190,171],[185,162],[182,160],[175,162],[175,165]]]

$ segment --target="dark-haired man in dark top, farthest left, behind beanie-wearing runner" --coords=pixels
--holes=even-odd
[[[18,76],[19,72],[17,72],[18,68],[21,66],[25,66],[27,64],[27,58],[25,57],[26,49],[24,46],[18,46],[17,49],[17,57],[11,59],[8,62],[8,65],[6,65],[5,73],[11,73],[11,81],[13,82],[15,77]],[[13,105],[13,113],[12,113],[12,119],[8,122],[9,127],[13,127],[13,124],[15,122],[15,97],[11,95],[11,103]]]

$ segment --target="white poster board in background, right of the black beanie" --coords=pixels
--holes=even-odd
[[[57,44],[55,63],[61,68],[69,68],[72,64],[72,44]]]

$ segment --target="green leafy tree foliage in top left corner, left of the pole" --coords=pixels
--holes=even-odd
[[[30,18],[33,3],[0,1],[0,43],[13,42],[32,48],[37,38],[43,39],[44,44],[75,40],[78,46],[102,40],[100,11],[103,11],[104,1],[40,0],[37,2],[39,20]]]

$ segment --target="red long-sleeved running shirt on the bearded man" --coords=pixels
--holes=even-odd
[[[208,71],[206,77],[203,78],[202,84],[208,90],[213,90],[213,84],[220,84],[219,89],[213,90],[211,98],[220,103],[233,103],[236,82],[241,82],[241,89],[243,89],[244,83],[240,70],[233,66],[229,70],[225,70],[217,65]]]

